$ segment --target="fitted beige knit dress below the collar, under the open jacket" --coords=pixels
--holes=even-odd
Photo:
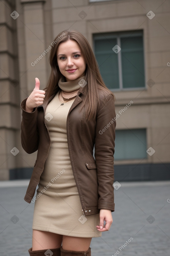
[[[51,146],[37,189],[32,229],[99,237],[102,235],[96,228],[100,223],[99,214],[83,215],[68,152],[66,120],[75,98],[61,105],[58,94],[47,105],[45,113]]]

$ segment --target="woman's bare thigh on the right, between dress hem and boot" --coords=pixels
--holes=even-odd
[[[81,238],[63,235],[63,250],[87,251],[90,247],[92,238]]]

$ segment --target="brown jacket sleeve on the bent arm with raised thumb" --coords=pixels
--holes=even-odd
[[[31,154],[38,150],[39,135],[37,129],[37,107],[33,112],[25,111],[26,99],[21,103],[22,121],[21,121],[21,144],[23,149]]]

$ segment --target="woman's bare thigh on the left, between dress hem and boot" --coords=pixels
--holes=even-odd
[[[63,235],[33,229],[32,250],[56,249],[62,245]]]

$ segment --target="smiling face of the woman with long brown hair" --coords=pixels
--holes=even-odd
[[[86,63],[80,47],[74,40],[60,43],[57,49],[57,63],[66,81],[75,80],[82,76]]]

